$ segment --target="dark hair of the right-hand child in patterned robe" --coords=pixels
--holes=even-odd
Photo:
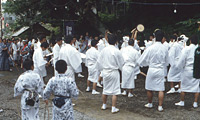
[[[65,73],[66,70],[67,63],[64,60],[58,60],[56,62],[56,71],[58,71],[58,73]]]

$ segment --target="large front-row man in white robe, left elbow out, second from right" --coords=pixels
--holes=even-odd
[[[168,61],[168,50],[161,43],[164,33],[161,30],[155,32],[156,42],[146,49],[139,60],[140,66],[149,66],[145,81],[145,89],[147,90],[148,104],[147,108],[152,108],[153,91],[159,92],[158,111],[163,111],[163,99],[165,91],[164,67]]]

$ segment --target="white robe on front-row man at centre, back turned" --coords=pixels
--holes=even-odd
[[[97,67],[102,71],[104,95],[121,94],[119,69],[123,64],[123,56],[114,45],[108,45],[101,51]]]

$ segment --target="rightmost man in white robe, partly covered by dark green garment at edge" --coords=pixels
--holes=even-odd
[[[194,65],[194,54],[198,47],[198,37],[196,35],[190,38],[190,46],[185,47],[180,55],[180,58],[176,64],[177,68],[181,68],[181,98],[180,102],[175,103],[177,106],[184,106],[185,92],[194,93],[193,107],[198,107],[198,96],[199,96],[199,81],[193,77],[193,65]]]

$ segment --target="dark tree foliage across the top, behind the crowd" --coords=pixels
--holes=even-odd
[[[156,28],[161,28],[167,35],[179,31],[190,36],[197,28],[199,6],[154,6],[138,5],[129,2],[161,2],[160,0],[8,0],[5,11],[18,16],[15,25],[28,26],[36,22],[50,23],[60,27],[63,20],[76,20],[79,33],[121,30],[130,32],[137,24],[144,24],[144,35],[148,36]],[[162,1],[166,2],[166,1]],[[170,2],[170,1],[168,1]],[[173,2],[180,2],[175,0]],[[182,0],[182,2],[195,2]],[[93,13],[96,8],[97,14]],[[173,11],[177,9],[175,14]]]

